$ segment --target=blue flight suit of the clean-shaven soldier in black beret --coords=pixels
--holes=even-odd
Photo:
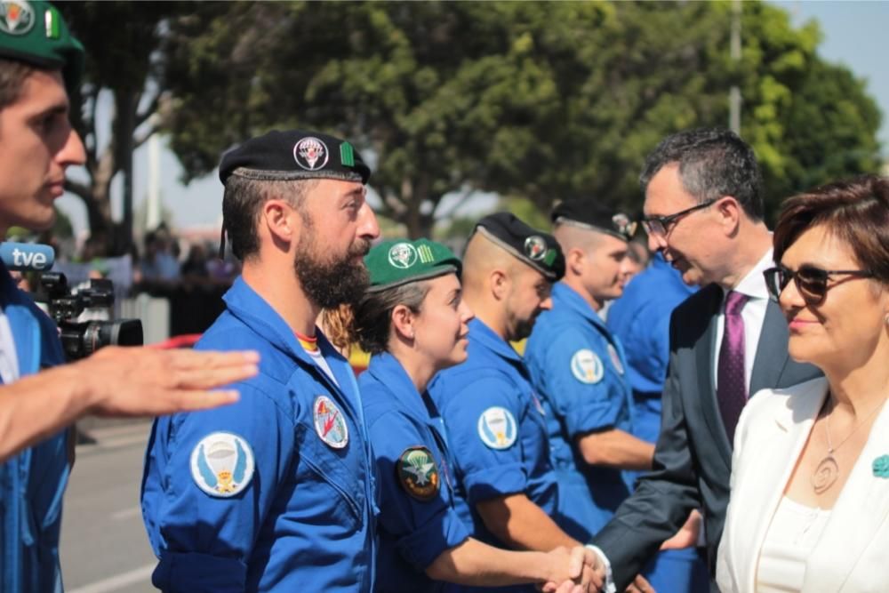
[[[621,344],[596,311],[562,282],[553,286],[552,301],[534,324],[525,362],[547,413],[560,525],[588,541],[632,492],[632,477],[590,466],[576,438],[605,429],[631,433],[632,393]]]

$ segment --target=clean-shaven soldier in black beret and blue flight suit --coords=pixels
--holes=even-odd
[[[547,412],[559,516],[568,533],[585,541],[632,492],[633,475],[625,470],[650,467],[653,447],[632,436],[626,357],[597,314],[621,294],[629,219],[612,220],[597,204],[568,200],[553,220],[567,272],[553,288],[552,309],[534,326],[525,360]],[[621,448],[635,447],[635,465],[590,462],[584,441],[605,432],[620,437]]]

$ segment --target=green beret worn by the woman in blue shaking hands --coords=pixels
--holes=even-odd
[[[383,241],[364,256],[364,263],[371,273],[369,292],[445,274],[459,276],[462,268],[450,249],[428,239]]]

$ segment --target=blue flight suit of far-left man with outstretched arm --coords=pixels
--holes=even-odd
[[[0,263],[0,306],[12,330],[19,375],[65,361],[52,319],[21,292]],[[61,591],[61,504],[71,460],[69,431],[0,464],[0,591]]]

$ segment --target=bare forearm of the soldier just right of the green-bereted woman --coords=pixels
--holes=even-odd
[[[542,551],[580,545],[525,493],[478,501],[476,510],[491,533],[510,548]]]

